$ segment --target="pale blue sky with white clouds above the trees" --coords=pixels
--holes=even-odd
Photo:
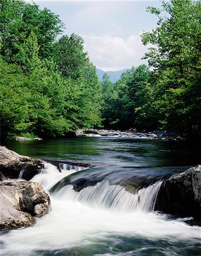
[[[93,64],[104,71],[117,71],[146,64],[147,47],[140,34],[157,26],[147,6],[160,7],[160,0],[132,1],[33,1],[47,7],[65,24],[63,34],[75,33],[85,41]]]

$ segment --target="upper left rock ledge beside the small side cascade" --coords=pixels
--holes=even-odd
[[[1,173],[10,178],[30,180],[43,168],[43,160],[19,155],[6,147],[0,146]]]

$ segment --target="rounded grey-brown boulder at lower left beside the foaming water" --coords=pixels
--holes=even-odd
[[[49,196],[40,184],[31,181],[0,182],[0,228],[33,226],[35,217],[51,208]]]

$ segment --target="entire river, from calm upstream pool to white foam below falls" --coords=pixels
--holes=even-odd
[[[153,211],[161,179],[201,162],[196,144],[97,137],[6,146],[22,155],[81,160],[95,167],[63,164],[59,172],[45,164],[32,180],[47,192],[60,180],[64,184],[50,195],[52,210],[32,228],[2,232],[0,255],[201,255],[200,227]],[[68,177],[99,180],[75,191]],[[135,179],[139,187],[148,182],[147,187],[129,193],[119,185]]]

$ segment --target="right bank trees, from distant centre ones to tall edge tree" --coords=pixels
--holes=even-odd
[[[106,127],[200,134],[200,10],[200,1],[193,0],[162,1],[161,10],[148,7],[158,16],[157,28],[141,36],[152,45],[145,55],[152,71],[133,67],[115,84],[103,77]]]

